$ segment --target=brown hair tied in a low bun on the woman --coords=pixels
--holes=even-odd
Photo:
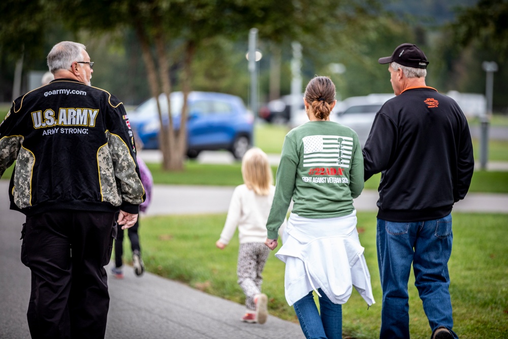
[[[329,77],[316,76],[307,84],[304,97],[314,116],[320,120],[326,119],[335,101],[335,85]]]

